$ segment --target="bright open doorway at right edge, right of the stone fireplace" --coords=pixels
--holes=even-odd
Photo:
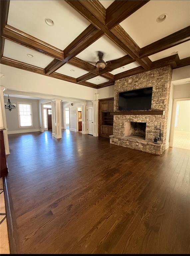
[[[171,146],[190,150],[190,98],[174,100]]]

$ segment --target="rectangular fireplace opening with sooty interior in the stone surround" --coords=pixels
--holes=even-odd
[[[146,136],[146,123],[141,122],[126,122],[125,123],[125,136],[137,136],[145,140]]]

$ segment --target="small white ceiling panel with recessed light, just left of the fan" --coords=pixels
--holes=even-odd
[[[74,70],[73,72],[71,70]],[[83,76],[87,73],[89,73],[88,71],[82,69],[82,68],[78,68],[75,67],[71,64],[66,63],[65,65],[63,65],[61,68],[59,68],[58,70],[56,70],[57,73],[66,75],[66,76],[71,76],[74,78]]]

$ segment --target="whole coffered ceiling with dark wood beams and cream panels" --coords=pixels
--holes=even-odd
[[[5,65],[93,88],[164,65],[190,65],[190,1],[1,0],[0,4]],[[163,19],[157,22],[160,15]],[[97,51],[104,53],[104,61],[111,60],[102,70],[95,67]]]

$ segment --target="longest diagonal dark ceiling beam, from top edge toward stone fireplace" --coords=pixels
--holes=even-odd
[[[103,31],[106,36],[108,36],[116,45],[118,45],[123,51],[125,51],[131,58],[135,59],[142,67],[145,69],[148,69],[151,65],[151,61],[148,61],[147,59],[139,59],[139,53],[137,51],[134,51],[134,48],[131,47],[131,44],[129,43],[128,38],[126,38],[127,33],[123,33],[122,35],[119,35],[118,29],[114,28],[114,32],[110,31],[104,24],[100,22],[99,19],[97,19],[94,15],[94,9],[86,8],[82,2],[78,0],[66,0],[66,2],[71,5],[75,10],[77,10],[81,15],[83,15],[87,20],[89,20],[94,26],[96,26],[98,29]],[[85,2],[85,1],[84,1]],[[119,26],[119,25],[117,25]],[[124,30],[123,30],[124,31]],[[118,38],[118,36],[125,36],[125,38],[121,41],[121,38]]]

